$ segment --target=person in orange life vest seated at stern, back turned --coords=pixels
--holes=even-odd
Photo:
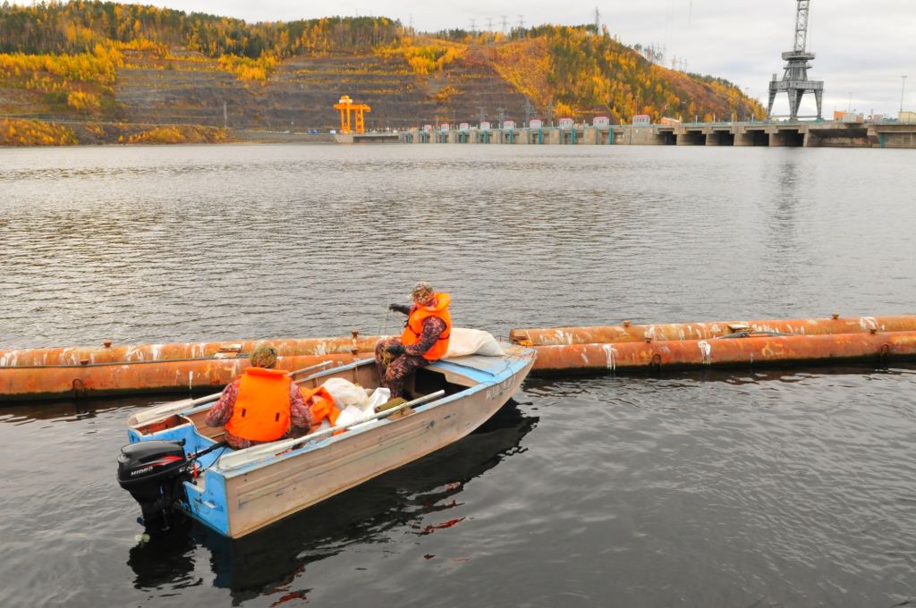
[[[262,344],[249,360],[251,366],[224,388],[207,412],[207,425],[225,425],[226,442],[236,450],[306,435],[311,429],[311,413],[289,374],[273,369],[277,351]]]

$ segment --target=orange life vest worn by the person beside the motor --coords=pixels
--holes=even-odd
[[[226,430],[251,441],[274,441],[289,430],[289,384],[283,370],[248,367],[238,384]]]

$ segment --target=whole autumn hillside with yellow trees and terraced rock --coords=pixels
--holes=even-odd
[[[762,114],[734,85],[653,65],[588,27],[407,36],[374,17],[250,25],[108,2],[0,6],[0,116],[72,131],[32,125],[37,135],[25,137],[7,120],[0,145],[180,140],[143,135],[158,125],[327,131],[342,94],[372,106],[366,125],[376,129]],[[98,126],[87,132],[88,123]]]

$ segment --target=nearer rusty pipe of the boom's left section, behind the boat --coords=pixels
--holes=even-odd
[[[349,364],[372,353],[300,354],[278,357],[278,369],[289,372],[330,361]],[[247,358],[183,359],[0,367],[0,403],[27,399],[129,395],[152,392],[215,392],[248,366]]]

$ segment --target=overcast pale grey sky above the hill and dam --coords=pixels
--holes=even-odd
[[[735,82],[767,102],[768,83],[782,78],[780,53],[794,42],[796,0],[153,0],[185,11],[235,16],[245,21],[290,21],[319,16],[389,16],[424,31],[463,27],[526,27],[600,22],[628,45],[664,45],[687,70]],[[809,78],[824,81],[823,113],[853,109],[864,114],[916,110],[916,0],[812,0],[808,50],[817,53]],[[909,76],[904,81],[900,77]],[[802,114],[813,114],[807,95]],[[783,93],[775,111],[788,113]]]

